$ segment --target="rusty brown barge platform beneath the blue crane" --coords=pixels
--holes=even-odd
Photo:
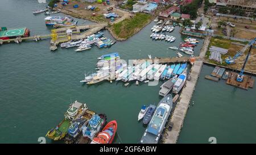
[[[238,73],[230,72],[229,77],[226,80],[226,84],[239,87],[245,90],[248,90],[249,87],[253,88],[254,79],[251,76],[244,75],[242,82],[237,81],[237,76],[238,76]]]

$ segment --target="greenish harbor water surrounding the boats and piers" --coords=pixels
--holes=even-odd
[[[36,7],[45,5],[38,1],[2,0],[1,27],[27,27],[31,36],[49,34],[51,30],[43,20],[46,16],[31,13]],[[92,23],[76,20],[78,24]],[[139,110],[143,104],[159,103],[162,99],[158,94],[159,86],[163,81],[157,86],[146,83],[136,86],[132,82],[127,87],[122,81],[104,81],[96,85],[79,81],[84,79],[84,73],[95,72],[97,57],[107,53],[118,52],[124,60],[147,58],[148,55],[176,56],[168,47],[179,47],[186,37],[180,35],[180,27],[176,26],[171,33],[176,37],[175,42],[167,43],[152,41],[150,30],[154,25],[151,22],[136,35],[126,41],[117,41],[110,48],[93,46],[84,52],[75,52],[75,48],[59,48],[52,52],[49,39],[1,45],[0,128],[5,136],[0,137],[0,143],[39,143],[39,137],[45,137],[47,131],[63,119],[69,104],[75,100],[86,103],[90,110],[106,114],[108,122],[118,122],[113,143],[139,143],[146,129],[137,121]],[[104,37],[114,40],[108,30],[102,32]],[[199,56],[204,40],[199,41],[195,56]],[[191,100],[193,105],[189,107],[177,143],[210,143],[210,137],[216,137],[217,143],[255,143],[255,88],[246,91],[226,85],[224,80],[216,83],[204,79],[212,70],[208,65],[201,70]],[[47,139],[47,143],[55,142]]]

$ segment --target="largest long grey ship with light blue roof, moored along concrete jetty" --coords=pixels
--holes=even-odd
[[[172,96],[166,95],[160,100],[146,131],[143,133],[141,144],[157,144],[162,135],[164,126],[171,115]]]

